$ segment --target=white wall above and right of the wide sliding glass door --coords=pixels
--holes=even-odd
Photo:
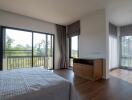
[[[0,10],[0,25],[55,34],[55,68],[58,68],[60,52],[55,24]]]

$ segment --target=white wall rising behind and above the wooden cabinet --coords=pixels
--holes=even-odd
[[[81,18],[79,57],[98,57],[108,60],[106,26],[105,10],[98,10]],[[104,66],[104,77],[107,77],[106,66]]]

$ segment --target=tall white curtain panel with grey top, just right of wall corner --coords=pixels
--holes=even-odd
[[[117,27],[109,24],[109,69],[118,67]]]

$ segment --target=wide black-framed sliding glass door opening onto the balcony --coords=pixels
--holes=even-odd
[[[53,69],[53,35],[3,28],[3,69],[44,67]]]

